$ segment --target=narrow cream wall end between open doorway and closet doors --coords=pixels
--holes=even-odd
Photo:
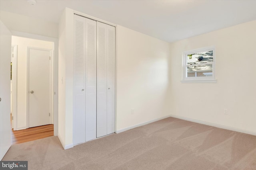
[[[64,149],[73,147],[73,10],[66,8],[59,22],[58,137]]]

